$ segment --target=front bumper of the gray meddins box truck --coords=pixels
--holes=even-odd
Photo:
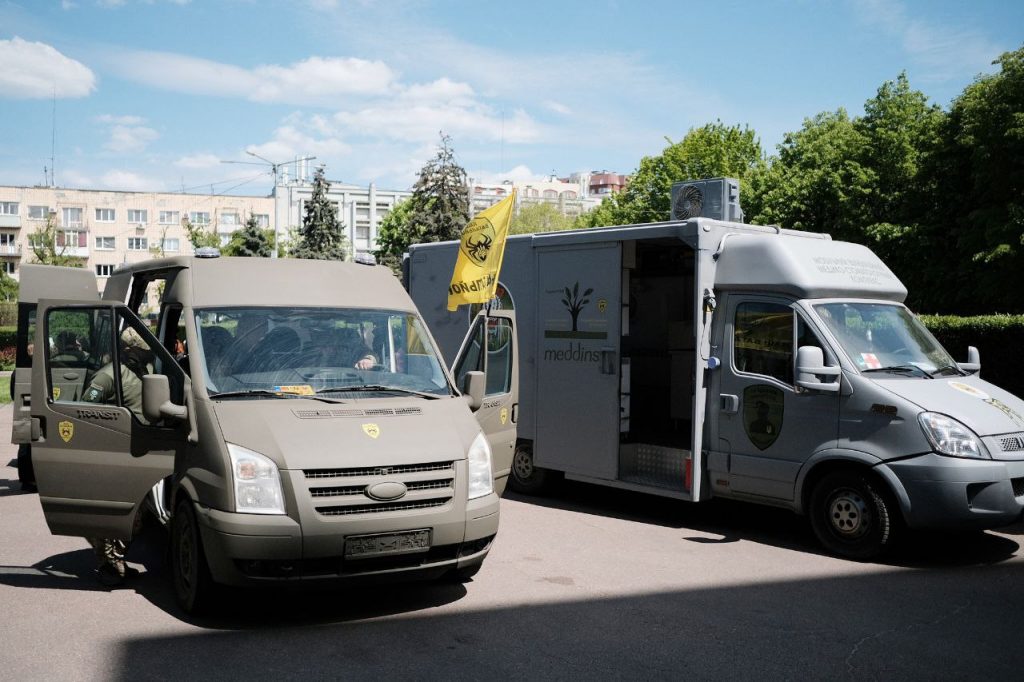
[[[997,528],[1024,514],[1024,461],[928,453],[878,468],[903,487],[900,506],[912,528]]]

